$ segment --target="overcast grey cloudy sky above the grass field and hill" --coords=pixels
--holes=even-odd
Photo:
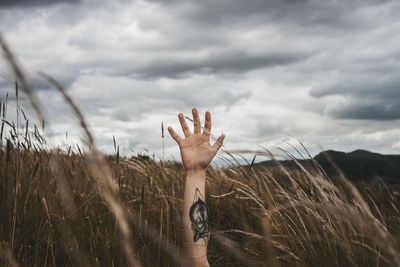
[[[59,144],[79,129],[38,71],[67,88],[105,151],[115,136],[124,153],[160,155],[161,121],[198,107],[227,149],[299,139],[313,154],[399,154],[398,14],[380,0],[0,0],[0,32]],[[0,75],[14,79],[4,60]],[[165,147],[178,155],[169,136]]]

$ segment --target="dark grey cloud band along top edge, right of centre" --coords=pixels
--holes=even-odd
[[[362,23],[353,16],[352,10],[391,1],[349,0],[251,0],[251,1],[182,1],[147,0],[164,5],[182,14],[187,21],[201,25],[245,26],[252,23],[282,23],[283,25],[309,27],[313,31],[324,26],[348,30]]]

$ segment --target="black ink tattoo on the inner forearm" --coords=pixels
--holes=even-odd
[[[189,218],[192,222],[193,241],[196,242],[200,238],[208,237],[207,209],[204,197],[200,190],[196,188],[194,193],[193,205],[189,210]]]

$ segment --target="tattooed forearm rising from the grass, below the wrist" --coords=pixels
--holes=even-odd
[[[184,249],[194,266],[208,266],[208,222],[205,210],[206,171],[187,171],[183,199]]]

